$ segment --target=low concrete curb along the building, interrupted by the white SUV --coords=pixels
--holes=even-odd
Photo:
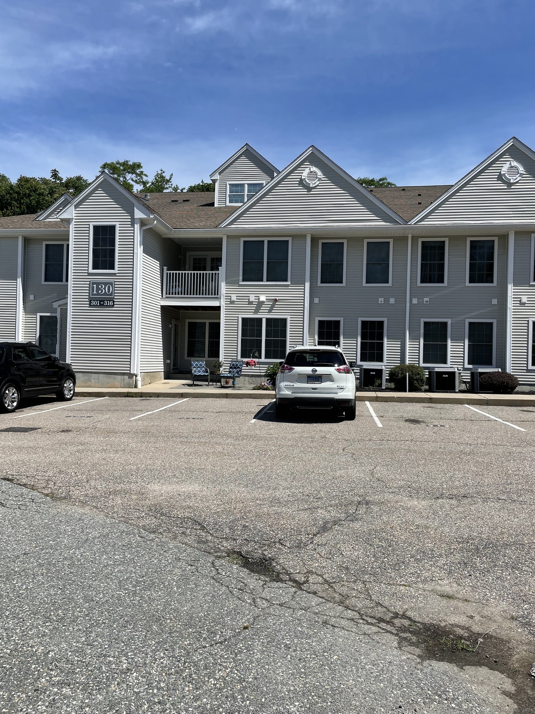
[[[166,389],[148,391],[147,389],[98,389],[81,388],[76,390],[77,397],[163,397],[167,399],[275,399],[275,392],[255,391],[250,389]],[[535,395],[531,394],[441,394],[436,392],[357,392],[357,401],[399,402],[405,404],[472,404],[473,406],[535,406]]]

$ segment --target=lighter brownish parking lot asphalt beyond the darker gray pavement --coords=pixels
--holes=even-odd
[[[535,408],[370,407],[357,403],[352,422],[305,411],[276,421],[253,399],[41,399],[0,416],[2,476],[52,496],[54,518],[88,506],[84,518],[106,514],[115,528],[230,558],[255,583],[336,606],[350,628],[389,638],[392,656],[447,668],[481,711],[535,708]],[[32,431],[3,431],[14,428]],[[351,646],[372,658],[366,640]],[[377,710],[389,710],[384,681],[369,683]],[[440,678],[429,686],[446,691]],[[322,700],[325,712],[352,711],[348,691]],[[292,711],[285,696],[272,711]],[[271,711],[262,706],[250,710]]]

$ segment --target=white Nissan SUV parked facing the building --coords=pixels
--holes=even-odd
[[[355,391],[355,375],[339,348],[294,347],[277,375],[275,414],[284,418],[292,407],[338,409],[352,420]]]

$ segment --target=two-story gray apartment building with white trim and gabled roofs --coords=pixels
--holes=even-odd
[[[0,340],[36,341],[80,386],[301,344],[535,385],[535,153],[518,139],[454,186],[365,188],[315,146],[279,171],[246,144],[211,178],[145,194],[103,173],[0,218]]]

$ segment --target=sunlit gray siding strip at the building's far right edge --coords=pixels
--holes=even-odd
[[[514,234],[513,314],[511,372],[521,384],[535,385],[535,368],[529,364],[529,321],[535,319],[535,285],[530,285],[531,233]],[[526,296],[527,304],[520,298]]]

